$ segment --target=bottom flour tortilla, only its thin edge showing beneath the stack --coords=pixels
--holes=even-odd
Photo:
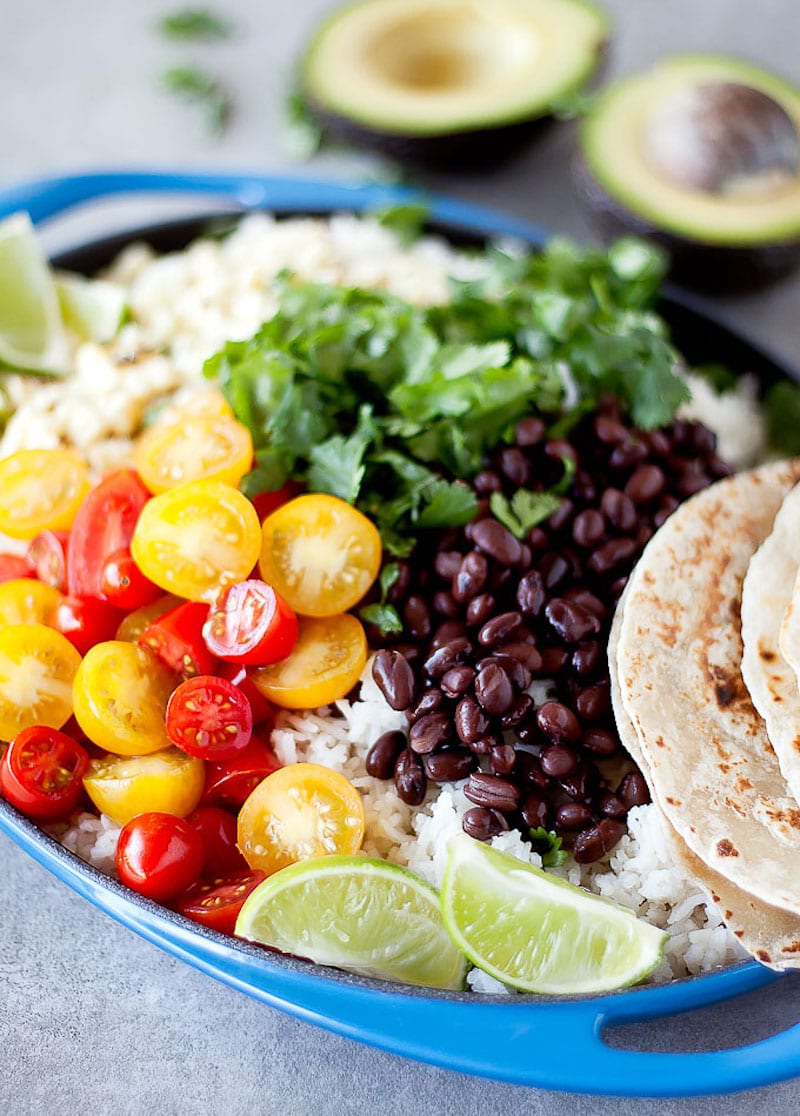
[[[611,706],[623,747],[636,761],[652,792],[652,776],[645,764],[639,739],[623,706],[617,672],[617,645],[623,623],[627,589],[614,616],[608,639],[608,668],[611,680]],[[654,804],[652,809],[658,809]],[[800,969],[800,917],[753,898],[746,892],[704,864],[690,852],[675,829],[662,816],[663,828],[673,859],[705,892],[731,933],[746,952],[770,969]]]

